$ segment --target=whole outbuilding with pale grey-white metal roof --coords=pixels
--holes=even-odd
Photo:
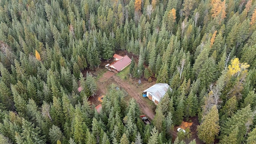
[[[155,104],[159,104],[169,88],[170,86],[165,83],[154,84],[150,88],[144,90],[142,96],[148,97],[148,99],[152,100]],[[172,88],[170,88],[170,90],[172,90]]]

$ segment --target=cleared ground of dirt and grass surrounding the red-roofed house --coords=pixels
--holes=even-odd
[[[124,56],[128,55],[130,58],[134,57],[135,61],[138,61],[137,56],[133,54],[129,54],[126,51],[118,51],[117,54]],[[108,63],[111,63],[113,58],[109,61],[102,61],[99,68],[95,68],[94,70],[85,70],[83,72],[84,76],[86,76],[86,72],[91,72],[97,80],[98,90],[94,97],[90,97],[88,100],[97,106],[101,102],[98,101],[98,97],[105,95],[108,91],[108,87],[111,84],[116,84],[118,87],[122,88],[128,93],[128,96],[125,97],[125,100],[129,102],[130,98],[134,98],[138,103],[141,114],[146,115],[150,120],[153,120],[155,116],[156,105],[154,102],[149,100],[148,98],[142,97],[143,90],[146,90],[150,86],[156,84],[156,80],[153,79],[152,82],[148,82],[144,78],[141,78],[141,84],[138,84],[139,79],[130,78],[129,76],[129,66],[119,72],[118,74],[111,72],[104,68],[104,66]]]

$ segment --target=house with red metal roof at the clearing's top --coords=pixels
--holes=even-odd
[[[114,54],[113,57],[114,62],[112,62],[111,64],[107,64],[105,68],[116,73],[120,72],[121,70],[129,66],[129,64],[131,64],[132,62],[132,60],[127,55],[119,56],[118,54]]]

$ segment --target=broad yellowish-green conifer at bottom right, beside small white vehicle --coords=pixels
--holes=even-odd
[[[198,138],[206,144],[214,142],[215,136],[220,130],[219,115],[216,105],[212,107],[210,112],[203,117],[202,123],[197,127]]]

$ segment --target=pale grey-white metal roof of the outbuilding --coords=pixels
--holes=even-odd
[[[158,84],[154,84],[153,86],[144,90],[143,92],[150,92],[153,96],[155,96],[156,98],[158,98],[160,100],[161,98],[164,97],[168,88],[170,88],[168,84],[158,83]]]

